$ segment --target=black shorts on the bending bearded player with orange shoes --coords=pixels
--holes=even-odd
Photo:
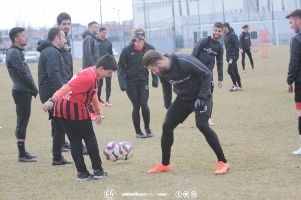
[[[168,108],[166,115],[176,118],[178,121],[183,123],[183,121],[185,121],[185,119],[191,114],[191,112],[195,111],[196,100],[197,98],[189,101],[184,101],[177,96],[174,102]],[[212,100],[211,98],[208,98],[205,101],[207,105],[207,110],[203,112],[195,111],[195,114],[197,116],[208,116],[208,117],[210,116]]]

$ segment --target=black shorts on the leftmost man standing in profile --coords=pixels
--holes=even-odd
[[[32,95],[28,91],[12,90],[17,115],[30,115]]]

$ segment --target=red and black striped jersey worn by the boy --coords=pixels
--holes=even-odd
[[[67,83],[71,91],[55,103],[54,116],[72,120],[88,119],[88,105],[97,92],[98,80],[95,66],[77,72]]]

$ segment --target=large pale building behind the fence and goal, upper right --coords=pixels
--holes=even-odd
[[[145,28],[159,51],[192,48],[212,33],[216,21],[229,22],[239,35],[249,24],[258,43],[278,45],[293,35],[285,15],[300,0],[133,0],[134,27]]]

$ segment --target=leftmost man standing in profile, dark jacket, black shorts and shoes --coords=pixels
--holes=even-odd
[[[35,162],[37,156],[25,150],[25,138],[31,114],[32,96],[37,97],[39,91],[23,54],[23,46],[27,45],[27,36],[24,31],[25,29],[22,27],[14,27],[10,30],[12,45],[7,51],[6,65],[14,82],[12,94],[17,112],[15,135],[19,150],[18,160],[20,162]]]

